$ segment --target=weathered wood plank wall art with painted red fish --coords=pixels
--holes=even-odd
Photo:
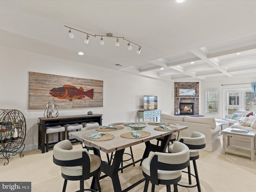
[[[53,100],[59,109],[103,106],[103,81],[29,72],[29,109],[45,109]]]

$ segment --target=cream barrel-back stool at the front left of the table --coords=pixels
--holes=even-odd
[[[80,190],[97,192],[93,189],[84,189],[84,180],[94,176],[98,191],[101,192],[99,171],[101,160],[99,156],[89,154],[86,149],[73,150],[70,140],[63,140],[54,145],[53,162],[61,166],[61,175],[65,179],[62,192],[66,191],[68,180],[80,180]]]

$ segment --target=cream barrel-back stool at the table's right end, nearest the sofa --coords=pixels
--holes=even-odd
[[[183,171],[183,172],[188,174],[188,183],[190,185],[188,185],[188,186],[182,185],[182,184],[178,184],[178,185],[182,186],[182,187],[188,187],[188,188],[197,186],[198,192],[201,192],[198,171],[197,171],[197,166],[196,166],[196,160],[199,158],[199,150],[202,148],[205,148],[205,136],[204,136],[204,134],[202,134],[200,132],[193,132],[191,137],[181,137],[180,139],[178,139],[178,141],[182,142],[182,143],[186,144],[186,146],[188,146],[189,151],[190,151],[190,153],[189,153],[190,160],[193,162],[194,172],[195,172],[195,174],[191,174],[190,166],[188,166],[188,172],[185,172],[185,171]],[[194,176],[196,178],[195,185],[192,185],[191,176]]]

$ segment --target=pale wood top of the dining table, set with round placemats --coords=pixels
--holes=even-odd
[[[107,141],[92,141],[88,140],[83,137],[84,134],[94,134],[94,133],[99,133],[95,129],[89,129],[89,130],[82,130],[82,131],[74,131],[74,132],[69,132],[69,136],[72,136],[73,138],[76,138],[79,141],[84,142],[85,144],[92,146],[98,150],[101,150],[106,153],[111,153],[117,150],[121,150],[130,146],[134,146],[136,144],[140,144],[142,142],[147,142],[156,138],[160,138],[166,135],[169,135],[174,132],[179,132],[180,130],[184,130],[188,128],[187,126],[181,126],[181,125],[172,125],[174,127],[177,127],[178,130],[170,130],[170,131],[158,131],[154,130],[155,125],[150,125],[148,124],[150,121],[143,121],[143,123],[146,123],[147,126],[144,128],[142,131],[150,132],[150,136],[144,137],[144,138],[123,138],[120,135],[122,133],[126,132],[132,132],[131,128],[129,126],[124,126],[123,124],[121,125],[116,125],[116,126],[122,126],[124,129],[120,130],[113,130],[113,131],[108,131],[106,133],[112,134],[114,136],[113,139],[107,140]],[[139,122],[141,123],[141,122]]]

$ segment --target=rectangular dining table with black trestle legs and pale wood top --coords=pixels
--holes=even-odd
[[[140,138],[130,136],[132,135],[132,131],[134,131],[134,129],[130,128],[130,126],[127,126],[128,124],[120,124],[114,126],[118,127],[118,129],[113,129],[111,131],[106,132],[107,134],[105,136],[108,137],[108,140],[104,141],[98,141],[98,139],[93,140],[88,138],[88,136],[91,136],[92,134],[99,133],[100,131],[97,129],[69,132],[69,135],[72,136],[73,138],[76,138],[77,140],[84,142],[85,145],[92,146],[94,154],[98,156],[100,156],[100,151],[105,152],[107,154],[115,152],[111,164],[102,160],[99,172],[99,176],[101,172],[104,173],[103,176],[100,176],[100,180],[107,176],[109,176],[112,179],[114,192],[127,192],[145,180],[145,178],[142,178],[141,180],[138,180],[136,183],[132,184],[128,188],[122,190],[118,176],[118,171],[127,168],[128,166],[132,166],[138,162],[140,162],[141,165],[142,161],[149,156],[150,152],[166,152],[166,148],[169,144],[169,140],[172,134],[174,132],[179,132],[181,130],[188,128],[187,126],[167,123],[164,124],[164,126],[169,125],[171,129],[163,130],[160,129],[160,124],[156,124],[156,122],[143,121],[138,122],[138,124],[146,125],[146,127],[142,128],[141,130],[135,130],[136,133],[140,133],[142,135]],[[102,135],[102,138],[103,136],[104,135]],[[127,136],[130,138],[128,138]],[[160,145],[156,145],[154,144],[154,142],[150,142],[156,138],[163,138]],[[126,166],[120,167],[122,156],[124,154],[124,149],[141,143],[145,143],[145,150],[142,157]],[[91,188],[97,190],[95,178],[92,179]]]

